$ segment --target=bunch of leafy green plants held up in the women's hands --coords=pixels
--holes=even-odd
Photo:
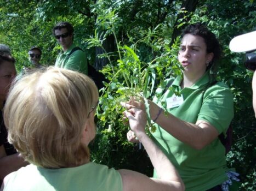
[[[105,51],[103,41],[110,34],[114,35],[117,45],[117,61],[111,61],[113,53],[105,51],[98,55],[107,57],[109,60],[109,65],[103,69],[103,73],[110,80],[110,83],[105,83],[106,88],[102,90],[104,94],[100,99],[100,104],[103,112],[99,114],[99,118],[104,122],[105,117],[108,116],[107,123],[112,124],[116,121],[116,114],[121,114],[122,108],[118,106],[120,102],[127,101],[132,96],[149,98],[156,84],[160,83],[161,85],[164,73],[180,73],[177,58],[173,56],[177,55],[178,43],[170,48],[168,39],[157,36],[161,30],[161,25],[158,25],[153,30],[149,29],[144,38],[130,43],[132,44],[130,47],[122,45],[121,41],[116,38],[116,26],[120,19],[115,10],[107,10],[105,13],[100,10],[96,22],[105,31],[99,33],[95,30],[94,37],[86,39],[88,48],[99,46]],[[138,44],[149,45],[152,51],[158,55],[149,62],[141,61],[136,53],[139,52]]]

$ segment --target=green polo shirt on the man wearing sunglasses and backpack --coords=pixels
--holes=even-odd
[[[79,71],[88,74],[88,65],[86,53],[82,50],[76,50],[69,56],[70,52],[76,45],[72,44],[65,52],[61,51],[56,59],[55,67]]]

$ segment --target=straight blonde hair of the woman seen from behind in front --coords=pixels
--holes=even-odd
[[[4,106],[8,141],[37,166],[84,164],[82,131],[98,97],[93,80],[77,71],[49,67],[18,77]]]

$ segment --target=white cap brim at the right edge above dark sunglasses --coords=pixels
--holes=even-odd
[[[239,35],[229,43],[229,48],[233,52],[247,52],[256,49],[256,31]]]

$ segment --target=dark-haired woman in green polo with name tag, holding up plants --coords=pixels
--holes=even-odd
[[[230,89],[214,77],[220,45],[201,23],[185,28],[181,37],[178,59],[183,76],[167,79],[166,87],[148,100],[148,117],[156,126],[152,136],[179,171],[186,190],[225,190],[224,182],[233,172],[227,175],[225,147],[218,135],[226,133],[234,103]],[[131,99],[126,108],[147,110],[145,105]],[[134,142],[134,137],[128,132],[129,141]]]

